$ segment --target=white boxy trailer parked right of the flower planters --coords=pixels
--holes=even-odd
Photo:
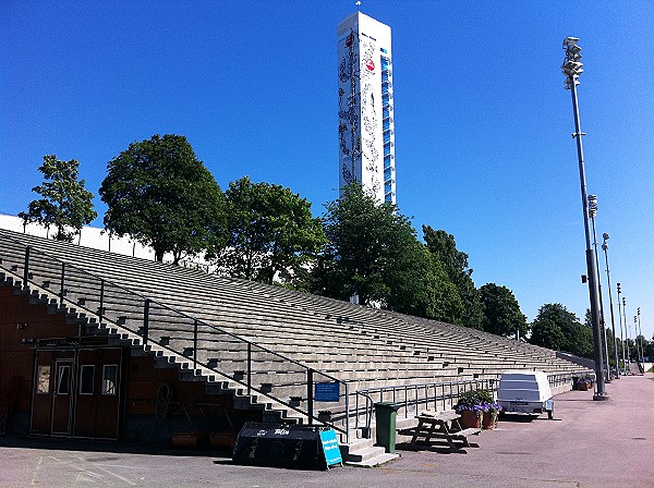
[[[542,414],[554,418],[554,400],[543,371],[512,370],[501,374],[497,390],[500,413]]]

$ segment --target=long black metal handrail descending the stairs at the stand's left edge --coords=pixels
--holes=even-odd
[[[61,269],[60,280],[61,281],[60,281],[60,294],[59,294],[59,298],[60,298],[60,303],[61,304],[63,304],[63,302],[65,301],[69,304],[73,304],[75,308],[80,308],[80,309],[83,309],[84,312],[87,312],[87,313],[89,313],[92,315],[98,316],[100,318],[100,324],[101,324],[102,320],[106,320],[107,322],[112,324],[117,328],[121,328],[123,330],[130,331],[130,332],[132,332],[132,333],[141,337],[143,339],[143,341],[144,341],[144,346],[147,344],[147,342],[149,340],[149,337],[148,337],[148,313],[149,313],[149,307],[153,304],[156,304],[157,306],[161,307],[165,310],[169,310],[169,312],[171,312],[173,314],[177,314],[180,318],[192,320],[193,321],[193,344],[194,344],[193,364],[194,364],[195,368],[197,368],[197,365],[199,364],[202,367],[204,367],[206,369],[209,369],[210,371],[213,371],[213,373],[215,373],[217,375],[220,375],[220,376],[222,376],[222,377],[225,377],[227,379],[235,381],[237,383],[246,387],[249,394],[251,393],[251,390],[254,390],[257,393],[259,393],[259,394],[262,394],[262,395],[264,395],[266,398],[269,398],[269,399],[271,399],[271,400],[274,400],[274,401],[276,401],[276,402],[284,405],[287,408],[293,410],[293,411],[295,411],[295,412],[298,412],[298,413],[300,413],[302,415],[305,415],[308,418],[310,424],[313,423],[313,420],[317,420],[317,417],[314,415],[314,412],[313,412],[313,403],[314,403],[313,391],[310,390],[310,386],[313,385],[313,376],[314,376],[314,374],[318,374],[318,375],[323,376],[324,378],[326,378],[328,380],[331,380],[332,382],[338,382],[339,385],[344,385],[346,393],[344,393],[344,395],[341,395],[339,393],[339,398],[343,398],[344,396],[344,403],[346,403],[344,425],[346,425],[346,427],[341,428],[341,427],[339,427],[337,425],[332,425],[332,427],[336,430],[339,430],[339,431],[346,434],[346,437],[347,437],[348,442],[349,442],[349,440],[350,440],[350,429],[349,429],[350,412],[349,412],[349,386],[348,386],[347,381],[340,380],[338,378],[335,378],[331,375],[328,375],[326,373],[323,373],[323,371],[316,370],[314,368],[311,368],[311,367],[308,367],[308,366],[306,366],[306,365],[304,365],[304,364],[302,364],[302,363],[300,363],[300,362],[298,362],[295,359],[287,357],[287,356],[284,356],[282,354],[279,354],[279,353],[277,353],[275,351],[271,351],[271,350],[269,350],[269,349],[267,349],[265,346],[255,344],[254,342],[249,341],[247,339],[241,338],[241,337],[239,337],[239,335],[237,335],[237,334],[234,334],[234,333],[232,333],[230,331],[223,330],[222,328],[220,328],[218,326],[215,326],[213,324],[208,324],[208,322],[206,322],[204,320],[199,320],[199,319],[197,319],[196,317],[193,317],[190,314],[183,313],[183,312],[178,310],[178,309],[175,309],[175,308],[173,308],[171,306],[165,305],[165,304],[162,304],[162,303],[160,303],[160,302],[158,302],[156,300],[149,298],[149,297],[147,297],[147,296],[145,296],[145,295],[143,295],[141,293],[134,292],[134,291],[132,291],[132,290],[130,290],[130,289],[128,289],[128,288],[125,288],[123,285],[113,283],[110,280],[106,280],[104,278],[100,278],[100,277],[96,276],[93,272],[89,272],[89,271],[87,271],[87,270],[85,270],[83,268],[80,268],[78,266],[75,266],[75,265],[70,264],[68,261],[64,261],[64,260],[60,259],[59,257],[53,256],[53,255],[51,255],[51,254],[49,254],[47,252],[44,252],[44,251],[41,251],[41,249],[33,246],[33,245],[25,245],[21,241],[15,240],[15,239],[13,239],[11,236],[8,236],[7,234],[3,234],[2,232],[0,232],[0,237],[3,239],[3,240],[5,240],[5,241],[9,241],[10,243],[13,243],[14,245],[17,245],[17,246],[20,246],[20,248],[24,249],[24,261],[22,263],[23,264],[23,274],[22,276],[20,273],[17,273],[17,272],[12,271],[11,269],[8,269],[4,266],[3,263],[0,263],[0,268],[4,269],[4,271],[13,274],[19,280],[21,280],[22,281],[22,286],[23,286],[23,289],[25,291],[29,290],[29,283],[34,284],[38,289],[44,289],[34,279],[29,279],[29,274],[31,274],[31,271],[29,271],[29,261],[31,261],[31,259],[34,258],[34,254],[36,253],[36,254],[38,254],[40,256],[44,256],[46,259],[53,260],[55,263],[61,265],[61,268],[60,268]],[[19,267],[20,264],[21,264],[20,261],[16,261],[16,268]],[[99,297],[100,307],[99,307],[98,310],[93,310],[93,309],[88,308],[87,306],[85,306],[84,304],[78,304],[78,303],[75,304],[74,302],[72,302],[70,298],[68,298],[65,296],[65,293],[69,291],[69,290],[66,290],[64,288],[64,284],[65,284],[64,283],[64,280],[65,280],[65,274],[64,274],[65,271],[64,270],[65,269],[69,269],[69,270],[70,269],[75,269],[82,276],[89,277],[89,278],[92,278],[94,280],[99,281],[99,283],[100,283],[100,297]],[[130,327],[125,327],[122,324],[118,324],[116,320],[113,320],[110,317],[108,317],[107,315],[105,315],[105,308],[102,307],[102,301],[104,301],[102,293],[104,293],[105,286],[107,284],[109,284],[111,286],[114,286],[119,291],[125,293],[126,297],[130,297],[130,298],[136,297],[140,301],[143,301],[143,303],[144,303],[144,327],[143,327],[144,333],[140,332],[138,330],[133,330]],[[82,293],[84,293],[84,292],[82,291]],[[233,339],[235,342],[240,342],[240,343],[245,344],[247,346],[249,352],[251,352],[252,347],[254,346],[254,347],[257,349],[258,352],[262,352],[264,354],[269,354],[269,355],[271,355],[274,357],[277,357],[277,358],[279,358],[279,359],[281,359],[283,362],[293,364],[293,365],[299,366],[300,368],[304,369],[304,371],[306,373],[306,378],[307,378],[307,382],[306,382],[306,385],[307,385],[307,404],[310,406],[307,408],[307,411],[304,411],[304,410],[300,408],[296,405],[292,405],[291,403],[289,403],[289,402],[287,402],[284,400],[281,400],[279,398],[275,396],[274,394],[270,394],[270,392],[266,392],[266,391],[263,391],[261,388],[254,387],[251,383],[251,381],[250,381],[250,371],[251,371],[251,367],[252,367],[252,365],[251,365],[251,361],[252,359],[251,359],[251,355],[250,354],[247,356],[247,369],[249,369],[247,381],[242,381],[242,380],[239,380],[237,378],[233,378],[229,374],[223,373],[223,371],[221,371],[219,369],[216,369],[216,368],[209,366],[208,363],[203,363],[203,362],[197,361],[196,344],[197,344],[197,333],[198,333],[197,326],[198,325],[202,325],[202,326],[204,326],[204,327],[206,327],[206,328],[208,328],[210,330],[214,330],[214,331],[220,332],[222,334],[226,334],[229,338]],[[168,345],[162,344],[160,341],[157,341],[157,346],[162,347],[162,349],[171,352],[174,355],[184,356],[184,354],[181,351],[173,350],[172,347],[169,347]],[[340,390],[340,387],[339,387],[339,390]]]

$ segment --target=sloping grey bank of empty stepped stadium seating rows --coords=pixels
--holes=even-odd
[[[35,300],[47,301],[55,313],[61,313],[61,266],[39,257],[39,252],[70,263],[64,286],[72,301],[70,320],[87,324],[88,333],[108,334],[117,344],[130,344],[132,354],[152,354],[157,365],[179,368],[184,379],[206,380],[207,389],[218,388],[216,385],[226,379],[217,376],[211,381],[210,370],[194,370],[190,363],[195,319],[318,371],[328,370],[331,376],[351,381],[352,388],[431,382],[440,377],[468,379],[517,367],[548,371],[576,368],[557,359],[553,351],[460,326],[10,231],[0,231],[0,237],[3,235],[23,243],[9,245],[0,239],[1,266],[13,270],[2,273],[5,282],[22,283],[22,246],[33,246],[29,271],[32,279],[43,285],[39,292],[44,291]],[[100,306],[101,280],[106,284],[102,309],[114,322],[110,326],[88,325]],[[152,338],[170,337],[168,347],[174,353],[155,342],[144,346],[143,339],[134,333],[143,326],[145,297],[153,301]],[[243,369],[239,367],[243,349],[226,340],[228,334],[206,326],[198,332],[198,359],[216,359],[214,367],[225,374]],[[293,375],[284,367],[288,365],[259,362],[253,374],[257,382],[264,382],[268,373],[276,371],[277,376],[271,377],[279,381],[279,389],[274,388],[272,394],[279,392],[277,398],[288,401],[283,395],[293,394],[295,386],[291,385]],[[229,386],[242,390],[240,383]]]

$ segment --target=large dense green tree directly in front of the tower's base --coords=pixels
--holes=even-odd
[[[328,243],[313,271],[313,291],[363,305],[445,319],[460,314],[456,290],[395,205],[377,205],[360,185],[326,205]]]

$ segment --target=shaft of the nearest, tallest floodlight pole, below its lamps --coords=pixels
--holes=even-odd
[[[572,110],[574,112],[574,138],[577,139],[577,156],[579,159],[579,182],[581,188],[581,203],[583,206],[583,223],[585,233],[585,256],[586,271],[589,274],[589,295],[591,301],[591,322],[593,325],[593,344],[595,346],[595,378],[597,382],[597,393],[593,400],[607,400],[604,385],[603,357],[602,357],[602,331],[600,330],[600,307],[597,300],[597,277],[595,276],[595,255],[591,248],[591,229],[589,224],[589,200],[585,185],[585,171],[583,164],[583,148],[581,144],[581,122],[579,119],[579,106],[577,101],[577,84],[573,76],[570,76],[570,91],[572,93]]]

